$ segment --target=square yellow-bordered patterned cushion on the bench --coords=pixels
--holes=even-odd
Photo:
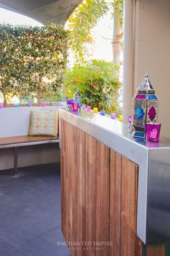
[[[30,135],[58,135],[58,111],[31,111]]]

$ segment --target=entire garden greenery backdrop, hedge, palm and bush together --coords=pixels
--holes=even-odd
[[[94,59],[95,27],[109,19],[111,61]],[[0,25],[0,101],[62,101],[73,98],[121,112],[123,0],[84,0],[65,27]],[[101,31],[101,35],[104,32]],[[104,53],[101,52],[101,56]]]

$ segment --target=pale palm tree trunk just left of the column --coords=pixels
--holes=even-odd
[[[112,54],[113,62],[120,65],[120,54],[121,54],[121,38],[122,34],[120,31],[120,12],[117,4],[113,4],[113,39],[112,39]]]

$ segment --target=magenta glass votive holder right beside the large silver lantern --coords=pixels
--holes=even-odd
[[[158,142],[161,132],[161,124],[146,123],[146,140],[151,142]]]

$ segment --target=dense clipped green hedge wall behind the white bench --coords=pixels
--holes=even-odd
[[[66,69],[68,33],[52,24],[42,27],[0,25],[0,91],[41,98],[58,94]]]

